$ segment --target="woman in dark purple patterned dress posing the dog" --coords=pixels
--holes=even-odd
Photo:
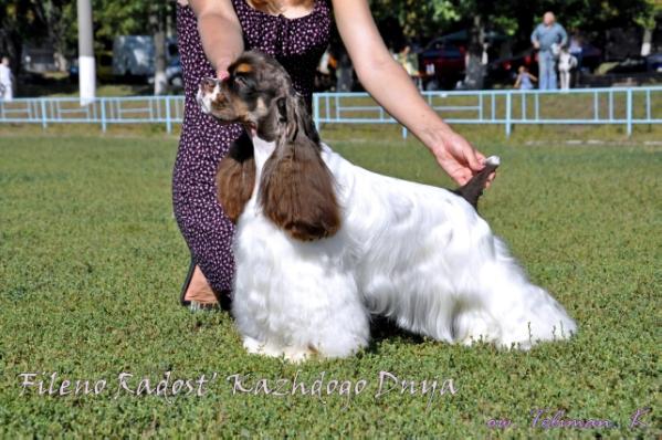
[[[172,202],[191,264],[181,302],[227,305],[232,289],[233,227],[217,202],[214,174],[242,127],[220,125],[196,102],[203,77],[228,76],[244,51],[275,56],[311,103],[315,67],[328,45],[333,15],[365,88],[407,126],[460,185],[484,156],[428,106],[381,40],[368,0],[178,0],[177,30],[186,104],[172,177]]]

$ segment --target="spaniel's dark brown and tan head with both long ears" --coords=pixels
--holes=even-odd
[[[340,226],[334,178],[322,158],[306,103],[290,75],[259,52],[244,53],[228,72],[223,81],[203,80],[198,102],[218,119],[242,123],[261,139],[275,143],[261,172],[259,200],[264,216],[298,240],[333,235]],[[217,175],[219,200],[227,211],[234,207],[237,217],[252,192],[252,187],[243,186],[254,181],[232,176],[246,176],[246,164],[230,156]],[[254,161],[250,164],[254,167]]]

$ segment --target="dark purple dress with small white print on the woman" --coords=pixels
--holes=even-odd
[[[294,87],[311,103],[315,67],[328,45],[332,24],[328,0],[316,0],[308,15],[287,19],[261,12],[246,0],[232,0],[246,50],[275,56],[292,75]],[[179,54],[183,72],[185,114],[172,176],[172,205],[179,229],[216,292],[232,289],[234,229],[217,201],[216,171],[243,128],[220,125],[196,102],[203,77],[216,76],[204,56],[198,23],[189,7],[177,7]]]

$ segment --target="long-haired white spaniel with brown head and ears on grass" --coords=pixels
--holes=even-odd
[[[477,214],[487,167],[449,191],[380,176],[319,142],[273,59],[246,52],[198,99],[240,138],[219,166],[237,223],[232,312],[250,353],[301,360],[368,345],[371,315],[448,343],[529,348],[575,322]]]

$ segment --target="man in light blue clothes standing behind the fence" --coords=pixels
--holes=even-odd
[[[568,34],[556,22],[554,13],[545,12],[543,22],[530,34],[530,42],[538,50],[540,90],[556,90],[556,60],[560,48],[568,42]]]

